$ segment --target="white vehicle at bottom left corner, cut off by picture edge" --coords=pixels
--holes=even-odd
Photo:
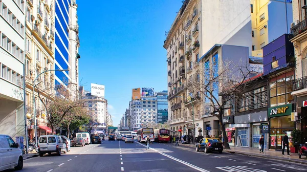
[[[0,159],[0,171],[13,167],[16,170],[23,169],[23,152],[8,135],[0,135]]]

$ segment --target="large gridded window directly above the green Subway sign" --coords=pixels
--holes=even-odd
[[[293,103],[292,92],[293,75],[270,82],[270,106]]]

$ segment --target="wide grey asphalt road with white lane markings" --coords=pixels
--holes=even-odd
[[[102,144],[72,147],[61,156],[27,159],[20,171],[307,171],[302,164],[227,153],[205,154],[171,143],[153,143],[150,147],[146,150],[143,143],[106,140]]]

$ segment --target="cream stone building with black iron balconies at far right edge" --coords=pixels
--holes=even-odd
[[[301,124],[297,129],[303,131],[303,136],[307,134],[307,2],[293,1],[293,24],[291,28],[290,41],[294,45],[295,51],[295,71],[293,81],[293,92],[295,98],[295,109],[301,119]]]

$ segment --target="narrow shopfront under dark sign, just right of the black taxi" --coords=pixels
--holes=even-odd
[[[225,125],[229,146],[234,146],[235,145],[235,127],[233,125],[234,116],[233,115],[225,116],[223,117],[222,122]]]

